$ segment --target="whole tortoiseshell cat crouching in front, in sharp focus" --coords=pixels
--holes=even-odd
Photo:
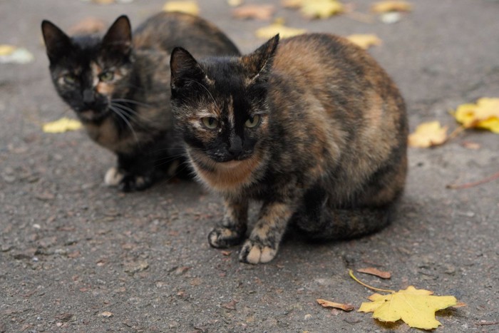
[[[277,254],[289,226],[315,239],[376,232],[406,180],[403,98],[365,51],[309,34],[242,57],[170,60],[173,115],[197,178],[225,199],[208,240],[242,242],[249,200],[262,208],[240,260]]]

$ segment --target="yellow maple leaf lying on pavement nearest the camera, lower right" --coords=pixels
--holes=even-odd
[[[458,303],[453,296],[433,296],[429,290],[413,286],[392,294],[371,294],[372,302],[364,302],[359,312],[373,312],[373,318],[383,322],[402,319],[410,327],[435,329],[441,323],[435,319],[435,312]]]

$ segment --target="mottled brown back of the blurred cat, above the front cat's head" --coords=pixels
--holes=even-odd
[[[215,24],[190,14],[161,12],[134,31],[135,48],[161,48],[168,53],[176,46],[192,50],[194,56],[238,55],[239,50]]]

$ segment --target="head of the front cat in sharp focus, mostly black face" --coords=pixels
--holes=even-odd
[[[252,158],[267,138],[267,91],[279,35],[242,57],[170,58],[175,123],[191,158],[216,165]]]

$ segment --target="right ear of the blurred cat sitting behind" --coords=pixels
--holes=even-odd
[[[114,21],[114,23],[104,35],[102,40],[103,48],[118,51],[124,55],[128,55],[132,49],[132,28],[128,16],[122,15]]]

